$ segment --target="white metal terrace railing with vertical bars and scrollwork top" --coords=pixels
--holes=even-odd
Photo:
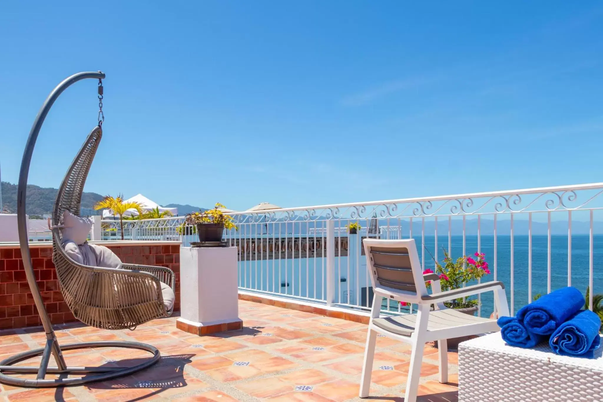
[[[603,236],[595,234],[603,228],[602,192],[603,183],[594,183],[237,212],[229,215],[239,229],[225,237],[239,248],[239,287],[247,291],[367,309],[372,292],[362,237],[413,237],[423,269],[443,259],[441,248],[455,259],[485,253],[492,273],[482,281],[504,281],[512,313],[535,294],[567,285],[582,292],[590,286],[590,306],[602,279],[593,272],[603,262]],[[367,235],[375,220],[379,234]],[[196,234],[179,231],[182,222],[124,221],[124,236],[187,245]],[[347,233],[352,222],[362,227],[357,235]],[[121,237],[119,221],[102,223],[103,239]],[[479,313],[490,315],[492,297],[479,303]]]

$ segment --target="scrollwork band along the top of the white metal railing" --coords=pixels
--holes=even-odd
[[[492,215],[501,213],[555,212],[563,210],[603,209],[603,183],[582,186],[545,187],[516,192],[473,193],[450,197],[399,199],[375,203],[336,204],[307,208],[276,209],[229,213],[236,225],[278,225],[305,222],[308,228],[318,221],[364,221],[371,219],[409,219],[435,216]],[[184,217],[124,221],[124,231],[165,230],[177,233]],[[103,220],[103,231],[121,230],[119,220]],[[324,227],[324,225],[323,225]]]

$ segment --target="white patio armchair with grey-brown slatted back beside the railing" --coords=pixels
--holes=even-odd
[[[500,315],[509,315],[505,288],[502,282],[495,281],[442,292],[438,275],[423,275],[413,239],[364,239],[363,242],[374,298],[364,351],[360,397],[368,397],[375,342],[377,333],[380,333],[412,345],[404,402],[415,402],[426,342],[438,341],[440,383],[446,383],[448,382],[446,339],[499,331],[496,320],[448,309],[444,306],[444,301],[493,291],[497,312]],[[425,286],[425,281],[428,280],[431,281],[432,294],[428,294]],[[417,313],[380,317],[381,301],[384,297],[388,300],[418,304]]]

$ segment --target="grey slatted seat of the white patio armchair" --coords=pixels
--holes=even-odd
[[[478,322],[493,321],[488,318],[476,317],[461,313],[454,309],[434,310],[429,312],[427,330],[458,327],[459,325],[476,324]],[[388,332],[399,335],[411,336],[417,322],[416,314],[405,314],[395,317],[375,318],[373,324]]]

